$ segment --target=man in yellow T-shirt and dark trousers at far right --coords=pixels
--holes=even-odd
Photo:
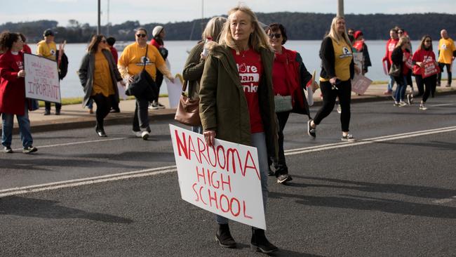
[[[438,67],[440,68],[440,73],[437,74],[437,86],[440,86],[443,67],[446,67],[446,72],[448,73],[448,84],[446,86],[451,86],[451,67],[452,61],[455,60],[454,52],[456,51],[455,42],[448,37],[448,32],[445,29],[442,29],[440,32],[441,39],[438,41]]]

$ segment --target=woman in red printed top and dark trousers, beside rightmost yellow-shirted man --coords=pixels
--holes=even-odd
[[[422,37],[421,44],[418,46],[417,51],[413,53],[413,74],[415,74],[415,80],[417,81],[417,88],[423,88],[424,94],[422,96],[420,110],[427,110],[427,107],[424,106],[426,103],[427,98],[431,94],[431,91],[436,90],[437,85],[437,73],[438,69],[438,62],[436,61],[436,55],[434,51],[432,51],[432,39],[431,36],[426,35]],[[431,70],[435,70],[434,74],[426,74],[425,67],[431,67]],[[434,69],[432,69],[434,67]],[[428,68],[429,69],[429,68]]]

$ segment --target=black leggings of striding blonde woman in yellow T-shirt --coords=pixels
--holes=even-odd
[[[314,124],[318,125],[327,117],[334,109],[335,98],[339,96],[340,108],[340,124],[343,132],[349,131],[350,125],[350,102],[351,102],[351,81],[342,81],[337,85],[337,89],[333,89],[333,85],[329,81],[321,81],[321,93],[323,94],[323,106],[316,112]]]

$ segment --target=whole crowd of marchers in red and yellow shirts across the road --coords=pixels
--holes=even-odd
[[[151,36],[147,29],[140,27],[135,31],[135,42],[126,46],[119,57],[113,47],[114,38],[102,34],[92,37],[78,74],[84,92],[83,107],[92,110],[93,102],[97,107],[95,132],[98,136],[107,136],[104,119],[109,112],[120,112],[119,90],[126,90],[135,96],[133,133],[147,140],[151,132],[148,110],[164,108],[158,101],[163,77],[174,81],[166,66],[165,36],[162,26],[154,27]],[[451,85],[451,64],[456,53],[454,42],[443,29],[436,56],[429,35],[422,36],[415,51],[404,29],[394,27],[389,36],[382,59],[389,74],[384,94],[391,95],[398,107],[411,105],[414,97],[421,97],[419,109],[427,110],[429,96],[434,96],[436,86],[441,85],[443,69],[448,73],[446,86]],[[148,43],[149,38],[152,40]],[[189,98],[199,101],[201,124],[193,126],[192,130],[203,134],[208,146],[213,145],[217,138],[257,147],[265,209],[267,176],[276,176],[277,183],[293,179],[283,150],[283,131],[290,113],[307,117],[307,133],[316,138],[318,125],[333,111],[338,100],[340,138],[354,141],[354,136],[349,133],[351,79],[355,74],[368,73],[372,66],[363,32],[347,31],[346,20],[342,17],[332,20],[321,42],[319,85],[307,71],[300,53],[285,47],[287,40],[286,27],[272,23],[264,28],[250,8],[237,6],[229,11],[227,18],[209,20],[201,41],[190,51],[182,72],[188,82]],[[28,112],[36,110],[37,106],[36,101],[25,98],[23,65],[23,53],[31,51],[25,44],[24,35],[13,32],[1,33],[0,50],[1,142],[4,152],[13,152],[14,115],[18,119],[23,152],[35,152]],[[63,51],[54,42],[54,32],[46,29],[36,54],[60,63]],[[362,54],[361,63],[354,61],[354,53]],[[415,77],[417,91],[413,90],[412,77]],[[142,88],[144,85],[146,88]],[[323,105],[312,117],[306,95],[307,91],[318,87],[321,88]],[[410,91],[407,91],[408,87]],[[55,104],[56,115],[60,114],[61,107]],[[44,115],[49,114],[51,103],[46,103]],[[236,247],[229,220],[222,216],[215,220],[218,244]],[[263,253],[277,250],[264,230],[259,228],[252,228],[250,244]]]

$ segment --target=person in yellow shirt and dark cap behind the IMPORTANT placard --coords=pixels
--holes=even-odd
[[[48,58],[49,60],[57,60],[57,46],[54,42],[54,32],[51,29],[46,29],[43,32],[44,39],[38,42],[36,54]],[[55,103],[55,115],[60,115],[62,105]],[[44,102],[44,115],[51,114],[51,102]]]

